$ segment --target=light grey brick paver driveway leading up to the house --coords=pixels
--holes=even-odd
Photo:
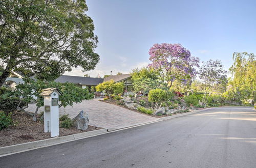
[[[29,104],[26,110],[33,112],[35,108],[35,104]],[[73,107],[60,107],[59,114],[69,114],[71,118],[74,118],[81,110],[88,113],[89,125],[102,128],[120,128],[157,120],[155,117],[139,114],[135,111],[97,100],[84,100],[81,103],[75,103]],[[44,111],[44,108],[40,107],[38,113],[40,111]]]

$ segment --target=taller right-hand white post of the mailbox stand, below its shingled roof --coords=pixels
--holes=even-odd
[[[51,137],[54,137],[54,136],[58,136],[59,135],[59,106],[58,104],[53,104],[53,100],[56,100],[57,98],[57,103],[59,102],[58,98],[59,98],[59,95],[57,92],[53,92],[51,94]]]

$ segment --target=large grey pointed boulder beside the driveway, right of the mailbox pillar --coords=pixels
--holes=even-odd
[[[77,129],[85,131],[88,129],[89,116],[81,110],[80,113],[72,119],[72,122]]]

